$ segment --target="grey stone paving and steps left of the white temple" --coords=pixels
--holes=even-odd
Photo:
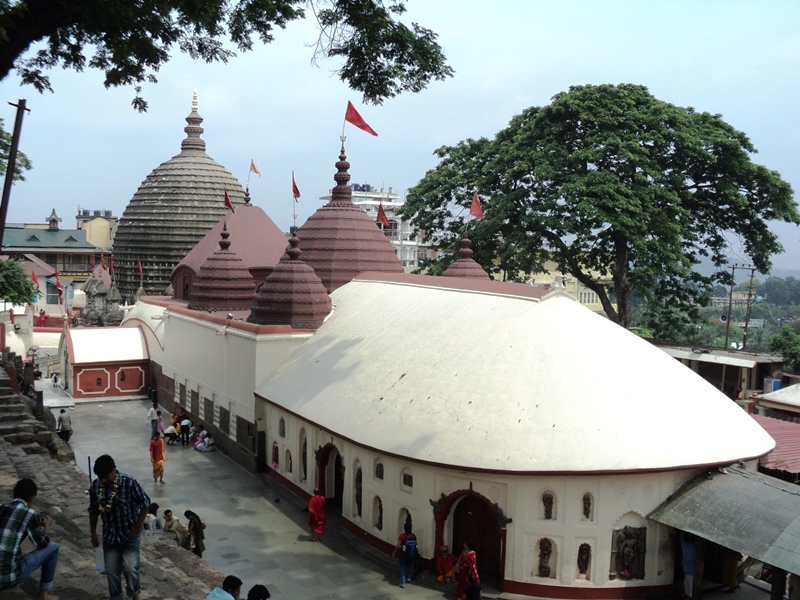
[[[70,443],[75,463],[63,461],[65,452],[59,451],[59,462],[46,454],[26,454],[21,446],[0,440],[0,501],[7,501],[18,478],[31,477],[39,485],[36,508],[47,510],[54,518],[54,541],[61,545],[54,593],[62,600],[108,597],[105,576],[94,569],[85,494],[89,464],[104,453],[115,458],[121,471],[136,477],[162,510],[171,508],[182,516],[189,508],[207,523],[203,560],[169,538],[143,537],[145,600],[202,600],[228,574],[244,581],[243,595],[253,584],[263,583],[276,600],[455,597],[454,586],[436,584],[430,574],[422,574],[400,589],[393,562],[353,543],[337,526],[335,514],[329,515],[322,543],[310,543],[304,503],[219,452],[170,446],[166,484],[154,483],[147,451],[147,408],[148,402],[138,400],[79,403],[69,408],[75,428]],[[427,550],[421,549],[424,555],[429,554]],[[0,599],[27,600],[35,592],[31,581],[21,589],[3,590]],[[767,596],[763,590],[744,585],[734,600],[766,600]],[[715,597],[720,600],[722,595],[709,591],[704,595]],[[484,598],[520,597],[485,588]]]

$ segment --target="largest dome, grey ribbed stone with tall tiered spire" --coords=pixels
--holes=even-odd
[[[244,202],[239,181],[205,152],[196,96],[186,122],[180,154],[147,176],[119,221],[114,271],[123,298],[140,285],[148,294],[163,294],[175,266],[228,210],[225,191],[234,205]]]

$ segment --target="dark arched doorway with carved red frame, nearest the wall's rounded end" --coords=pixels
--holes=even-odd
[[[442,497],[434,508],[436,544],[448,544],[454,554],[461,553],[464,542],[472,540],[478,553],[481,578],[494,580],[502,587],[505,577],[506,523],[511,519],[481,494],[469,490],[453,492]],[[451,519],[451,539],[444,538],[445,524]]]

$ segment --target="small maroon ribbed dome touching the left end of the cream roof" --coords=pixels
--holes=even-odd
[[[300,260],[300,240],[292,237],[288,260],[281,260],[264,280],[248,321],[259,325],[291,325],[317,329],[331,312],[331,298],[314,269]]]

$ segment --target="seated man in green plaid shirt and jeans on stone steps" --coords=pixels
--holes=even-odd
[[[14,500],[0,509],[0,589],[22,583],[42,567],[37,598],[58,600],[50,594],[58,566],[58,544],[47,535],[53,521],[31,508],[38,491],[32,479],[20,479],[14,486]],[[36,549],[22,554],[20,548],[26,537]]]

